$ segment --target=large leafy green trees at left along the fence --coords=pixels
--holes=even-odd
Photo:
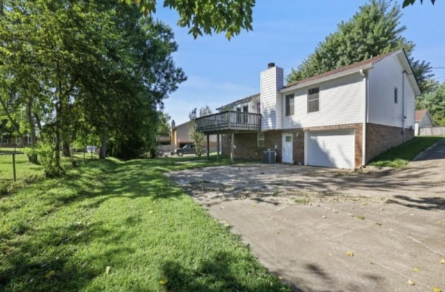
[[[155,144],[156,106],[186,79],[168,26],[107,0],[2,3],[0,105],[15,131],[39,129],[56,172],[74,141],[126,159]]]

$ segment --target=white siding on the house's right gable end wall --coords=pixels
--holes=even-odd
[[[397,103],[395,88],[398,88]],[[375,63],[369,70],[369,122],[402,127],[405,115],[405,128],[414,129],[414,104],[414,91],[397,56]]]

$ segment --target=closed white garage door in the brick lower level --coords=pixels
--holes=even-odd
[[[354,130],[307,132],[305,152],[307,165],[354,168]]]

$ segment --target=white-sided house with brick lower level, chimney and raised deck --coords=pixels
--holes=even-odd
[[[274,63],[260,74],[259,94],[197,119],[197,130],[223,135],[223,154],[333,168],[365,166],[414,136],[420,95],[403,50],[284,84]]]

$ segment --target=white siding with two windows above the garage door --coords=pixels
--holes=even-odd
[[[363,122],[365,83],[357,72],[340,79],[326,81],[318,86],[318,111],[307,113],[307,92],[314,86],[300,88],[294,93],[295,113],[283,117],[283,129],[321,127],[335,124]],[[282,107],[285,108],[282,99]]]

